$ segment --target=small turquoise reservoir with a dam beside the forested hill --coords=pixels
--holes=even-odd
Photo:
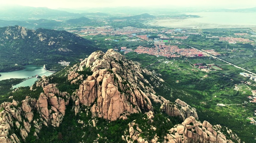
[[[36,65],[28,65],[24,66],[24,70],[15,70],[15,71],[8,71],[8,72],[0,72],[0,80],[4,79],[11,79],[11,78],[18,78],[18,79],[26,79],[28,77],[32,76],[50,76],[53,73],[47,72],[43,69],[43,66],[36,66]],[[17,85],[14,85],[13,88],[18,88],[21,86],[31,86],[36,81],[36,78],[25,80],[24,82],[21,82]]]

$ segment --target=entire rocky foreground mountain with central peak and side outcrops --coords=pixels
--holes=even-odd
[[[106,53],[96,51],[73,67],[66,67],[51,77],[43,76],[31,86],[30,92],[36,92],[31,97],[19,96],[17,93],[22,88],[15,90],[12,102],[0,105],[0,140],[19,143],[33,139],[33,142],[39,142],[44,139],[41,130],[55,130],[61,127],[65,116],[71,115],[75,118],[69,120],[84,132],[80,142],[233,143],[221,132],[224,127],[197,121],[195,109],[185,102],[177,99],[173,103],[156,95],[153,86],[162,87],[163,82],[151,71],[127,60],[113,49]],[[65,86],[74,87],[74,90],[65,92],[70,89]],[[166,115],[162,111],[179,114]],[[132,115],[135,120],[129,120]],[[175,120],[171,116],[182,119],[181,124],[173,125]],[[126,120],[130,122],[126,124]],[[103,122],[110,126],[99,126]],[[116,125],[112,126],[112,123]],[[91,133],[95,130],[95,136],[90,135],[87,128]],[[110,134],[105,131],[110,131]],[[116,136],[116,131],[120,136]],[[229,133],[233,140],[240,141],[232,131]],[[114,135],[115,139],[105,136],[107,134]],[[60,142],[63,138],[58,135]]]

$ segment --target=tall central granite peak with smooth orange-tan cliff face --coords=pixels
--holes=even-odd
[[[143,84],[149,84],[149,82],[141,73],[152,73],[142,70],[140,66],[112,49],[106,54],[101,51],[92,53],[79,66],[73,67],[68,74],[68,80],[78,77],[76,71],[83,71],[86,68],[91,69],[93,73],[83,75],[87,79],[74,94],[75,114],[79,112],[79,102],[82,105],[92,106],[93,117],[116,120],[125,112],[138,113],[152,110],[147,95],[153,96],[155,102],[162,102],[158,96],[154,95],[155,91],[151,86]],[[155,78],[160,79],[156,76]],[[152,78],[152,80],[155,79]]]

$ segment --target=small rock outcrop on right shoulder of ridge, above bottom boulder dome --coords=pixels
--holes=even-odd
[[[170,101],[165,101],[160,108],[167,115],[180,117],[183,121],[190,116],[193,116],[198,120],[195,108],[190,107],[180,99],[177,99],[175,102],[176,104]]]

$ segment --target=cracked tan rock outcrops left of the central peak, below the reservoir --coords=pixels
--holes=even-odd
[[[16,134],[9,132],[15,126],[20,131],[22,139],[25,140],[30,133],[32,121],[36,128],[34,135],[39,133],[42,124],[59,127],[65,115],[65,105],[68,105],[70,97],[67,92],[59,92],[58,88],[52,84],[45,86],[43,90],[45,93],[41,93],[38,100],[26,96],[21,102],[21,107],[18,107],[18,102],[14,100],[12,103],[4,102],[0,105],[2,109],[0,112],[0,143],[20,143]],[[64,99],[67,101],[65,102]],[[34,114],[39,114],[40,118],[35,119]],[[22,115],[27,120],[22,118]]]

